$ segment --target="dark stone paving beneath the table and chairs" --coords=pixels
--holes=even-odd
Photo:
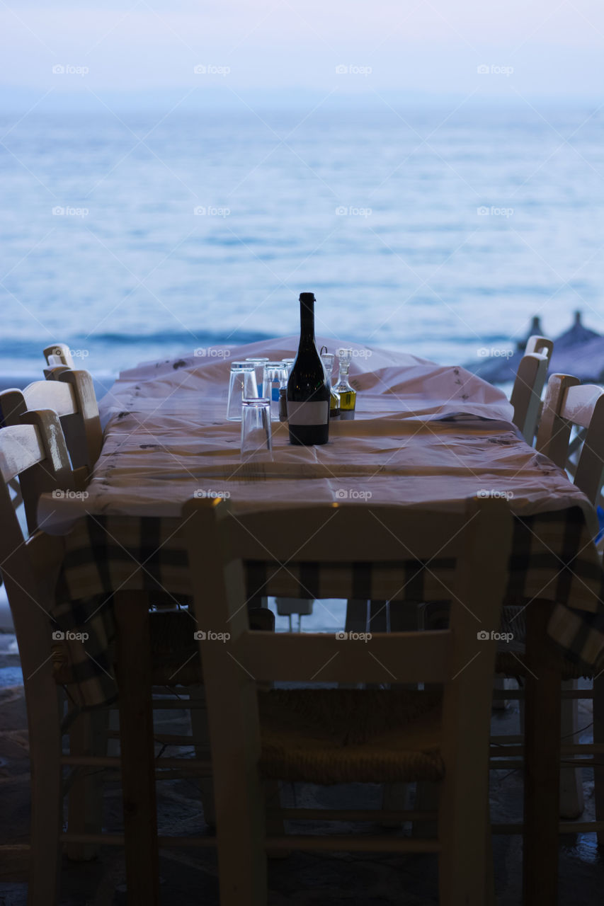
[[[14,639],[0,635],[0,845],[26,843],[29,820],[28,751],[23,687]],[[14,646],[13,646],[14,647]],[[160,712],[164,731],[183,732],[186,712]],[[511,707],[493,713],[493,732],[515,732],[517,712]],[[590,723],[588,708],[581,711],[581,727]],[[585,775],[585,820],[592,816],[593,786]],[[372,807],[379,802],[377,786],[331,789],[300,786],[284,789],[290,803],[313,807],[337,805]],[[158,786],[162,834],[208,834],[197,786],[193,781],[171,780]],[[105,786],[106,830],[120,829],[121,795],[117,781]],[[513,821],[521,814],[521,776],[517,772],[492,775],[492,811],[495,821]],[[308,828],[308,823],[305,823]],[[295,825],[291,825],[294,830]],[[339,826],[340,833],[347,825]],[[364,825],[366,831],[367,826]],[[376,828],[377,829],[377,828]],[[393,832],[394,833],[394,832]],[[495,837],[495,878],[498,906],[521,902],[521,844],[516,836]],[[26,863],[3,860],[0,850],[0,906],[25,906]],[[270,906],[428,906],[436,903],[436,863],[431,855],[374,855],[362,853],[292,853],[269,863]],[[604,864],[593,835],[560,838],[560,904],[601,902]],[[218,906],[216,860],[211,851],[170,850],[161,853],[162,906]],[[122,850],[103,847],[90,863],[63,861],[61,906],[122,906],[125,904]],[[49,906],[51,903],[49,902]]]

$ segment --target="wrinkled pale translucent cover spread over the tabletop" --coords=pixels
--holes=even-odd
[[[519,515],[575,503],[593,519],[565,474],[518,436],[500,390],[461,367],[355,344],[356,419],[332,421],[329,443],[309,448],[289,445],[287,425],[273,422],[274,462],[242,464],[239,423],[225,418],[229,362],[280,359],[296,345],[214,348],[123,371],[102,400],[107,427],[88,496],[43,496],[44,528],[64,531],[85,514],[178,516],[195,494],[230,496],[245,511],[338,499],[454,505],[494,493]]]

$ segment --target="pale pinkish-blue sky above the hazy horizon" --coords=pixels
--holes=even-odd
[[[598,98],[601,0],[0,0],[0,85],[200,103],[332,92]]]

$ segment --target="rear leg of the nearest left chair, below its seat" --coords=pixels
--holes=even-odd
[[[63,824],[61,776],[62,703],[52,677],[27,696],[31,762],[31,859],[27,906],[54,906],[61,871]],[[27,684],[26,687],[27,689]]]

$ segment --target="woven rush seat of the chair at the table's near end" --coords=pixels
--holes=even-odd
[[[441,703],[414,689],[260,692],[260,772],[315,784],[441,780]]]

